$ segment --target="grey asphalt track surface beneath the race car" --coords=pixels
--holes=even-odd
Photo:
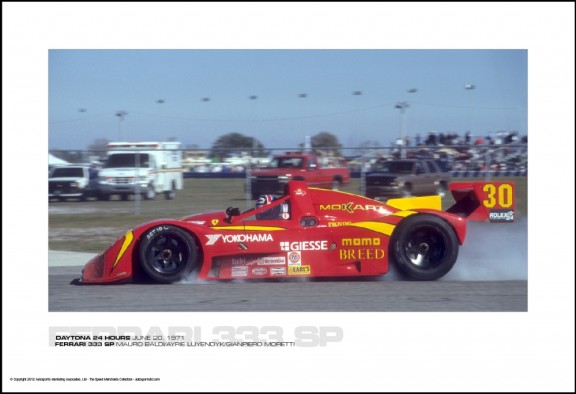
[[[526,280],[382,279],[78,285],[77,254],[50,254],[50,312],[525,312]],[[88,261],[86,254],[80,254]]]

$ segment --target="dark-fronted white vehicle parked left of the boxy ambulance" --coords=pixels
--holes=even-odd
[[[48,175],[48,200],[98,196],[98,172],[86,165],[56,166]]]

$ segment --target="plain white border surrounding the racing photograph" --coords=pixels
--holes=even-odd
[[[134,390],[9,379],[152,374],[152,366],[162,381],[138,390],[574,390],[573,3],[3,2],[2,10],[5,391]],[[528,49],[529,312],[48,313],[48,50],[234,47]],[[345,337],[254,352],[48,347],[49,326],[178,324],[337,325]]]

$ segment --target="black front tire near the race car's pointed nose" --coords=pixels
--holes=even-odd
[[[142,235],[140,267],[152,280],[174,283],[186,278],[199,266],[194,238],[175,226],[159,225]]]

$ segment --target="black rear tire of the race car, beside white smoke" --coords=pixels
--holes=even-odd
[[[450,224],[433,215],[404,219],[392,233],[390,262],[412,280],[435,280],[458,258],[459,242]]]

